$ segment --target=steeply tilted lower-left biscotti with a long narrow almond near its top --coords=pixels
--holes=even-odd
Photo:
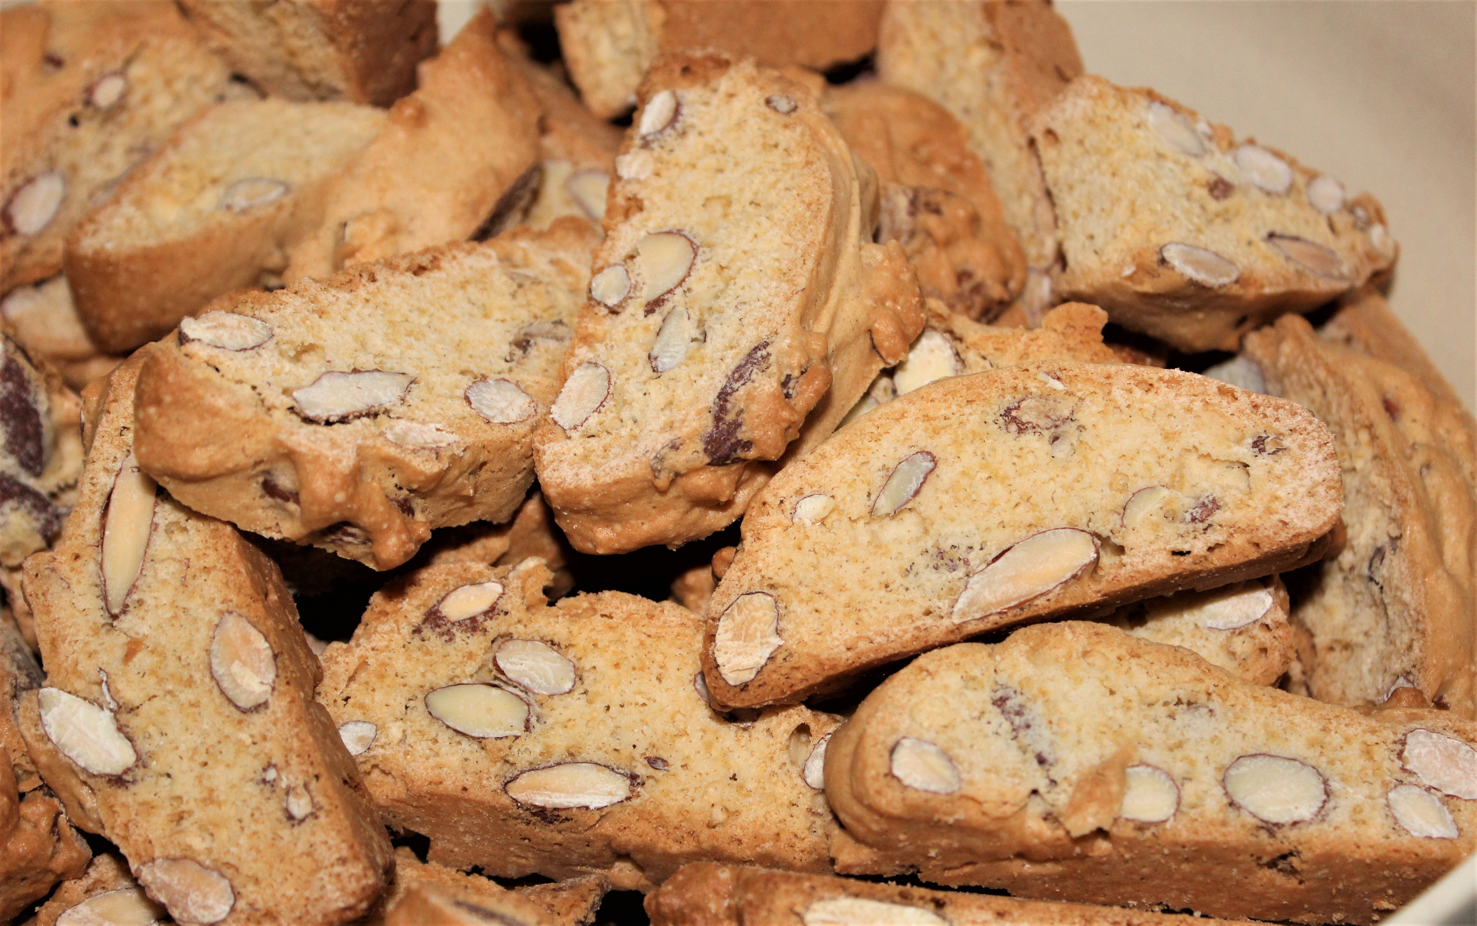
[[[27,560],[46,687],[21,728],[80,827],[185,923],[331,926],[384,889],[390,842],[328,713],[281,572],[223,521],[160,496],[120,366],[66,532]]]

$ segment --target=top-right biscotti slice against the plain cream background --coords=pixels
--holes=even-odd
[[[1235,350],[1394,263],[1372,196],[1151,90],[1078,77],[1031,137],[1065,260],[1056,294],[1180,350]]]

